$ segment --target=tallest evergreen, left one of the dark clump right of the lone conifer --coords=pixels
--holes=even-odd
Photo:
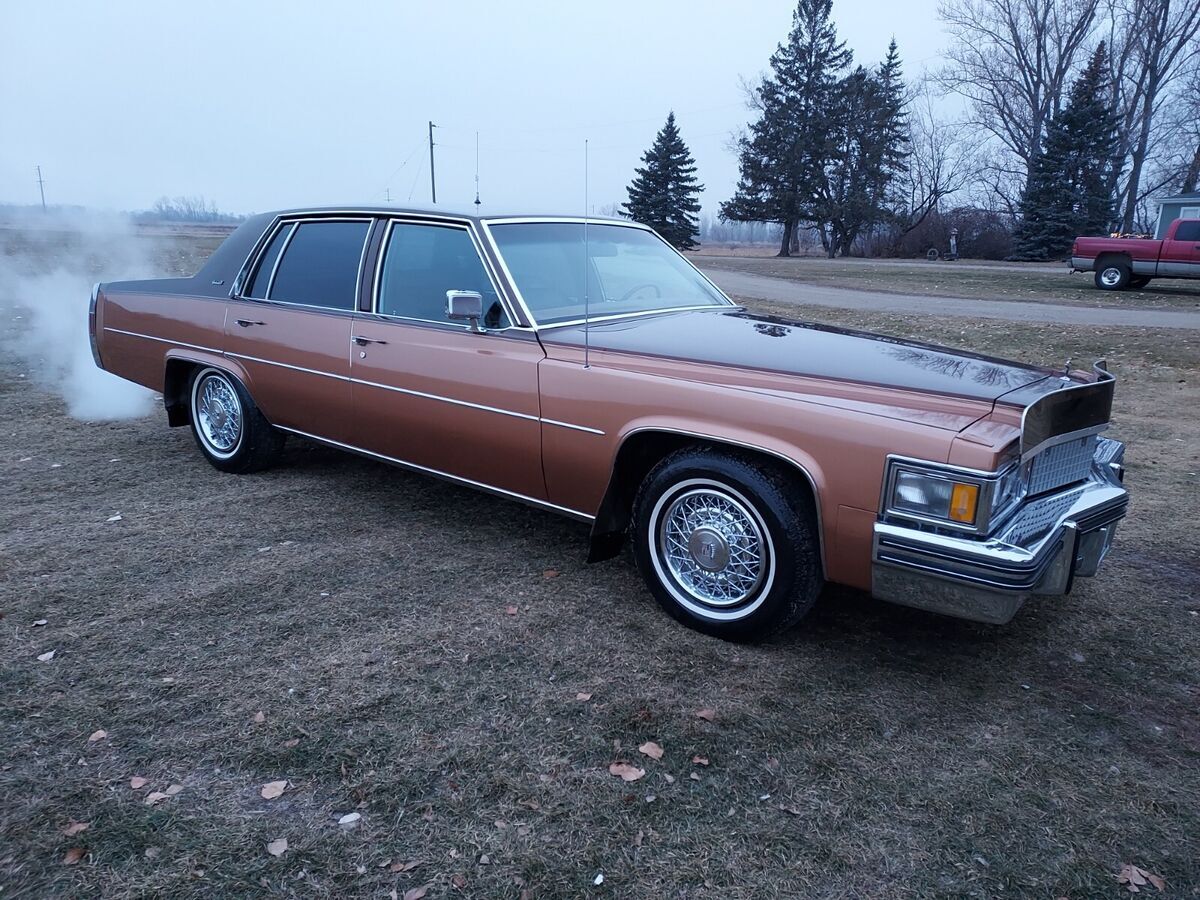
[[[830,22],[833,0],[799,0],[787,42],[755,90],[760,115],[738,142],[740,178],[721,217],[784,226],[779,256],[812,221],[821,180],[836,148],[838,85],[851,54]]]

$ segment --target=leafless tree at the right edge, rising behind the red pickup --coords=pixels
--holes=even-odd
[[[1164,107],[1193,100],[1187,89],[1175,89],[1187,84],[1200,54],[1200,4],[1109,0],[1109,5],[1112,79],[1122,126],[1117,152],[1124,161],[1114,193],[1122,208],[1121,228],[1128,232],[1139,217],[1139,205],[1165,184],[1154,178],[1144,182],[1147,160],[1156,149],[1170,146],[1178,133],[1181,120],[1162,115]]]

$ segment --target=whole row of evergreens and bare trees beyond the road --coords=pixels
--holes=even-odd
[[[961,221],[1007,229],[994,252],[1048,259],[1078,234],[1147,230],[1152,198],[1196,190],[1196,0],[953,0],[940,17],[946,62],[910,84],[895,41],[856,64],[832,0],[798,0],[706,230],[767,223],[780,256],[833,257],[911,251]],[[936,112],[948,95],[960,115]],[[642,161],[622,212],[692,248],[701,186],[673,114]]]

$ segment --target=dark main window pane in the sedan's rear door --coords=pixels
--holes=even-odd
[[[367,222],[302,222],[271,284],[271,300],[353,310]]]

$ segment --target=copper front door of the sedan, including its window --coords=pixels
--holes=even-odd
[[[467,223],[394,221],[370,313],[354,319],[355,438],[436,474],[544,500],[538,338],[511,326]],[[446,292],[484,296],[482,331]]]

